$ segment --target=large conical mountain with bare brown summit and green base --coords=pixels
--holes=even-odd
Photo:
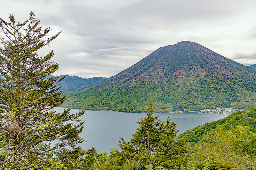
[[[256,105],[256,70],[195,42],[158,48],[138,63],[100,83],[67,92],[63,107],[158,112]]]

